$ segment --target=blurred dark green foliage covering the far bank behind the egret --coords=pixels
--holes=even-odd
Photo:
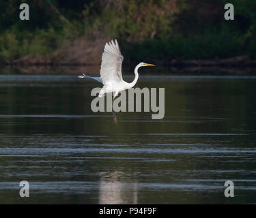
[[[20,3],[30,20],[18,18]],[[235,20],[224,19],[225,3]],[[255,0],[10,0],[0,8],[0,60],[52,54],[79,37],[115,37],[131,61],[256,57]]]

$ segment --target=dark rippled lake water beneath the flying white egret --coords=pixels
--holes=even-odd
[[[1,204],[256,203],[256,76],[140,74],[136,87],[165,88],[165,118],[119,112],[117,126],[91,112],[94,87],[0,75]]]

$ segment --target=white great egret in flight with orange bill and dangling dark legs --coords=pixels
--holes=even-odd
[[[79,76],[79,78],[92,78],[98,82],[102,82],[103,87],[100,89],[98,97],[102,97],[106,93],[113,93],[113,99],[115,99],[120,91],[134,87],[139,78],[139,67],[154,66],[154,64],[150,63],[139,63],[134,69],[135,78],[129,83],[124,81],[122,77],[123,60],[124,57],[121,55],[117,40],[115,40],[115,42],[113,42],[113,40],[111,40],[109,43],[106,42],[104,52],[102,53],[100,77],[91,77],[83,74],[83,76]],[[114,123],[117,124],[117,119],[114,112],[113,116]]]

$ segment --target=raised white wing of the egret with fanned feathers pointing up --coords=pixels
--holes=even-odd
[[[122,62],[124,57],[121,55],[117,40],[105,44],[100,66],[100,78],[103,84],[120,82],[122,78]]]

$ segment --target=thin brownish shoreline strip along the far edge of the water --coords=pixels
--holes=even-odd
[[[124,74],[133,74],[135,65],[123,65]],[[256,74],[256,67],[248,66],[175,66],[156,65],[158,74],[236,74],[250,75]],[[0,65],[4,74],[74,74],[82,73],[88,75],[98,75],[100,65]],[[155,71],[144,69],[143,74],[152,74]]]

